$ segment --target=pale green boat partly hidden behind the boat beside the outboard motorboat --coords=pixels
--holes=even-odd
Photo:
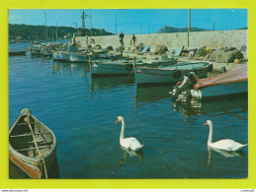
[[[141,59],[136,62],[137,66],[168,66],[177,63],[177,58],[170,60],[146,60]],[[96,60],[91,63],[92,76],[113,76],[113,75],[131,75],[134,73],[133,60]]]

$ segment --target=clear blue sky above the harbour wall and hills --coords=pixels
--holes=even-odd
[[[9,24],[81,27],[79,9],[12,9]],[[91,15],[92,27],[108,32],[152,33],[163,26],[188,27],[188,9],[84,9]],[[213,30],[235,30],[248,27],[247,9],[191,9],[191,27]],[[90,20],[86,19],[86,28]]]

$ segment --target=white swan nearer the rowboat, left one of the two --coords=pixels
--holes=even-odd
[[[143,145],[141,145],[136,140],[136,138],[133,138],[133,137],[125,138],[126,123],[125,123],[125,119],[123,116],[117,117],[116,124],[120,121],[122,122],[122,129],[121,129],[121,134],[120,134],[120,145],[128,150],[133,150],[133,151],[140,150],[143,147]]]

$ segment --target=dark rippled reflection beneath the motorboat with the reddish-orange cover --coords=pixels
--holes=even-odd
[[[180,112],[186,117],[208,113],[215,113],[215,115],[224,113],[236,115],[237,118],[247,119],[247,115],[239,116],[237,114],[248,112],[248,98],[246,96],[203,101],[183,97],[181,99],[173,99],[172,105],[174,111]]]

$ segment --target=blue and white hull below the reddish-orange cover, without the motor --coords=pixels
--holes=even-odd
[[[248,94],[248,81],[216,84],[199,90],[191,90],[191,96],[198,99],[210,99],[223,96],[239,96]]]

